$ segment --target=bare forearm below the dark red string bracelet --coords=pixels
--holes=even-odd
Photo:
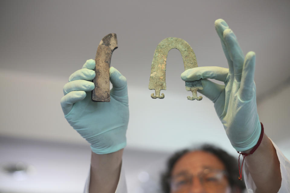
[[[255,182],[257,193],[279,191],[282,181],[280,163],[276,149],[265,133],[256,151],[245,157],[245,164]]]

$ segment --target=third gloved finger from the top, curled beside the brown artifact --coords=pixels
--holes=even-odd
[[[72,91],[92,91],[95,88],[95,84],[85,80],[75,80],[68,82],[63,87],[63,94],[66,95]]]

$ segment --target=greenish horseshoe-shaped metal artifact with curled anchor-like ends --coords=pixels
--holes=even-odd
[[[176,48],[182,55],[184,70],[195,68],[197,66],[195,53],[193,52],[190,45],[180,38],[169,37],[162,40],[154,53],[152,65],[149,89],[155,90],[155,94],[152,93],[151,97],[153,99],[164,98],[164,93],[160,96],[160,90],[166,90],[165,72],[166,72],[166,59],[169,50]],[[202,96],[197,96],[197,90],[202,90],[201,80],[193,82],[185,82],[185,89],[192,92],[192,97],[188,96],[188,100],[201,100]]]

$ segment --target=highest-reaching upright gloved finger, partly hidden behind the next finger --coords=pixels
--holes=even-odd
[[[217,19],[214,22],[214,27],[218,33],[218,36],[221,39],[221,47],[223,48],[224,55],[227,58],[227,63],[229,65],[229,73],[233,74],[234,73],[233,61],[230,59],[230,55],[228,53],[228,50],[227,50],[227,47],[226,47],[226,44],[224,41],[224,36],[223,36],[224,30],[228,29],[229,26],[227,25],[227,23],[223,19]]]

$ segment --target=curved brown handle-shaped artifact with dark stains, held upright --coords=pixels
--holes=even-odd
[[[101,40],[96,57],[96,77],[93,82],[95,89],[92,90],[92,101],[110,102],[110,63],[111,56],[115,49],[118,48],[117,35],[110,33]]]

